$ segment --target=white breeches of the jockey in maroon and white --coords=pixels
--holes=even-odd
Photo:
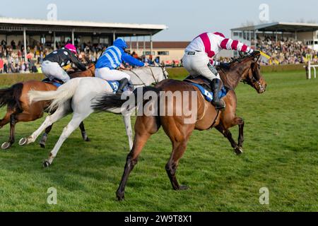
[[[205,52],[195,52],[194,55],[189,55],[187,52],[182,59],[183,66],[190,73],[190,76],[204,76],[209,80],[214,78],[220,79],[220,75],[216,71],[216,74],[208,68],[210,59]]]

